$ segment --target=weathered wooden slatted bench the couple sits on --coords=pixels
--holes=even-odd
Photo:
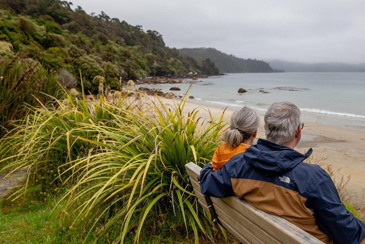
[[[209,204],[205,201],[198,182],[201,168],[194,163],[186,164],[185,168],[200,205],[209,213]],[[220,224],[242,243],[324,244],[284,218],[258,210],[243,199],[237,197],[207,199],[208,202],[211,199]]]

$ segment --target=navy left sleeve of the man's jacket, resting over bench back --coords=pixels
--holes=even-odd
[[[234,196],[226,164],[216,171],[213,171],[212,165],[205,165],[200,171],[200,190],[203,194],[211,197]]]

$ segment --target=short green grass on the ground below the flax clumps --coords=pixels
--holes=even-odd
[[[58,205],[56,211],[53,210],[57,200],[54,196],[45,198],[43,201],[28,201],[23,204],[4,203],[0,200],[0,236],[1,243],[27,243],[27,244],[63,244],[63,243],[81,243],[80,239],[70,239],[67,226],[63,226],[59,222],[60,213],[62,213],[63,205]],[[170,214],[170,216],[172,216]],[[167,226],[168,225],[168,226]],[[150,232],[141,234],[141,243],[181,243],[191,244],[195,240],[193,236],[185,236],[181,229],[183,228],[183,220],[173,217],[172,219],[161,221],[156,218],[154,228],[160,231],[156,234],[149,235]],[[227,233],[228,243],[239,243],[232,235]],[[227,243],[220,233],[214,236],[216,244]],[[86,243],[92,243],[88,241]],[[108,243],[108,242],[105,242]],[[133,243],[133,240],[126,240],[126,243]],[[200,238],[199,243],[208,244],[211,241],[207,238]]]

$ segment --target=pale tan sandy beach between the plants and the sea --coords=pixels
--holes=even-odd
[[[163,99],[164,103],[172,104],[171,99]],[[233,109],[224,106],[207,106],[199,104],[194,99],[188,99],[184,112],[188,113],[198,108],[200,116],[210,120],[209,112],[218,118],[224,109],[224,120],[229,121]],[[264,115],[260,113],[261,121],[258,131],[259,138],[265,138]],[[301,153],[313,148],[311,163],[322,160],[331,165],[335,171],[335,182],[350,176],[346,186],[351,203],[363,206],[365,202],[365,130],[349,129],[333,125],[304,121],[304,129],[300,143],[295,148]]]

